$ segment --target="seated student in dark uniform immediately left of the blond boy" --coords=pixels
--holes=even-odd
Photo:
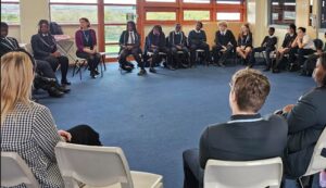
[[[210,46],[206,43],[206,33],[202,29],[201,22],[196,23],[196,28],[188,35],[188,42],[190,48],[190,66],[196,61],[196,50],[204,50],[204,61],[210,62]]]

